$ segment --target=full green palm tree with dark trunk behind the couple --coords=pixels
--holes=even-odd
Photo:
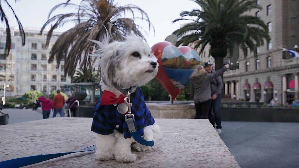
[[[239,45],[245,56],[248,49],[257,56],[257,47],[264,44],[264,39],[269,42],[265,23],[256,16],[245,14],[252,9],[262,9],[256,0],[192,1],[202,10],[182,11],[181,18],[173,21],[192,21],[173,32],[178,36],[176,45],[195,43],[196,49],[201,45],[201,54],[205,46],[210,44],[210,54],[215,58],[215,70],[222,68],[223,57],[227,52],[233,54],[235,44]]]

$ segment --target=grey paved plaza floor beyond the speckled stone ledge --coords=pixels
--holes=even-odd
[[[32,109],[2,112],[9,114],[10,124],[42,118]],[[298,123],[222,122],[222,127],[219,136],[241,168],[299,167]],[[196,126],[193,129],[196,131]]]

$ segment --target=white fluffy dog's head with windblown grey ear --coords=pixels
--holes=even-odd
[[[126,36],[122,42],[94,41],[100,47],[94,56],[100,57],[99,64],[103,83],[117,84],[121,88],[141,86],[158,73],[158,62],[151,48],[141,37]]]

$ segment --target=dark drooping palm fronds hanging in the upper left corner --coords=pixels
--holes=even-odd
[[[15,16],[16,21],[18,22],[18,25],[19,25],[19,32],[20,32],[20,36],[22,38],[22,46],[24,46],[25,45],[25,32],[24,32],[23,26],[22,26],[19,18],[16,16],[15,11],[10,6],[10,4],[7,2],[7,0],[3,0],[3,1],[13,11],[13,15]],[[15,2],[17,2],[17,0],[15,0]],[[5,13],[4,13],[3,8],[2,8],[1,0],[0,0],[0,17],[1,17],[1,23],[5,22],[5,25],[6,25],[6,45],[5,45],[4,54],[7,57],[9,52],[10,52],[10,48],[11,48],[11,35],[10,35],[10,27],[9,27],[9,24],[8,24],[8,19],[7,19],[7,16],[5,15]]]

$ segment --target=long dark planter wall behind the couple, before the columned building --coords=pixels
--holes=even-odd
[[[224,108],[220,107],[222,121],[299,122],[298,108]]]

